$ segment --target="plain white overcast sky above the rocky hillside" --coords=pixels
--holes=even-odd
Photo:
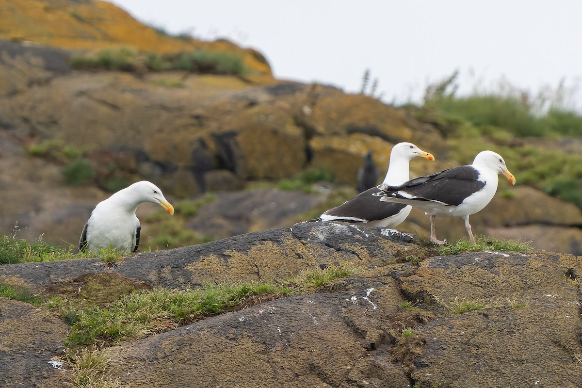
[[[279,79],[358,92],[366,69],[386,102],[420,101],[428,83],[460,71],[460,91],[536,94],[565,81],[582,107],[579,0],[112,0],[172,34],[226,37],[258,49]]]

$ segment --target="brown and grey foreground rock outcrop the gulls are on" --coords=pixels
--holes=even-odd
[[[186,289],[204,281],[279,281],[344,264],[362,270],[314,294],[105,348],[112,377],[132,387],[582,385],[582,258],[573,255],[441,257],[406,234],[315,222],[148,252],[114,266],[100,259],[3,265],[0,279],[40,291],[101,273]],[[398,307],[403,301],[414,306]],[[455,314],[459,301],[482,309]],[[24,387],[65,382],[65,372],[48,361],[60,354],[66,326],[22,302],[0,298],[0,308],[2,359],[19,362],[3,365],[0,380]],[[40,321],[47,322],[42,335]],[[16,332],[22,335],[10,334]]]

